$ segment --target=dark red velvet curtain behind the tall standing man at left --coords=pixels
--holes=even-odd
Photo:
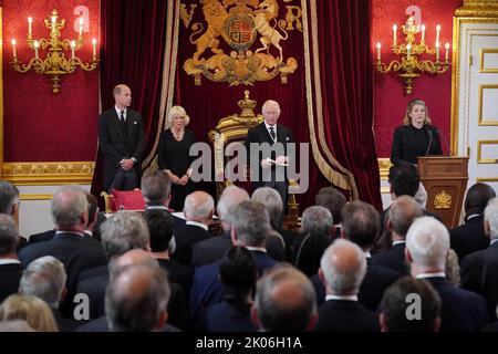
[[[166,40],[167,1],[101,1],[101,100],[102,110],[114,105],[113,87],[125,83],[132,90],[132,108],[142,113],[147,146],[154,145],[158,127],[163,61]],[[98,152],[92,192],[103,184],[103,156]]]

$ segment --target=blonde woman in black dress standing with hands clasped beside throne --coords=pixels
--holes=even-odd
[[[159,169],[163,169],[172,180],[169,208],[183,211],[185,197],[191,188],[190,164],[194,157],[189,156],[189,150],[196,142],[196,136],[193,131],[185,128],[190,118],[183,107],[173,106],[166,121],[169,128],[160,134],[158,164]]]

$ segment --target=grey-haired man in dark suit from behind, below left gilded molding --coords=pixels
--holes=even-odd
[[[51,210],[56,228],[55,237],[46,242],[27,246],[19,252],[19,259],[28,267],[37,258],[53,256],[64,264],[68,272],[68,296],[61,305],[61,312],[71,316],[80,273],[107,263],[107,259],[98,242],[84,237],[89,204],[83,189],[75,186],[59,188],[53,195]]]

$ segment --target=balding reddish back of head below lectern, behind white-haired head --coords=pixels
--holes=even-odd
[[[412,222],[423,216],[421,205],[412,197],[401,196],[390,207],[388,218],[393,228],[400,237],[406,236]]]

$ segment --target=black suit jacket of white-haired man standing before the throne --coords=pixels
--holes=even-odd
[[[277,124],[277,143],[283,144],[283,152],[277,150],[277,153],[279,155],[281,153],[282,155],[287,156],[289,154],[287,144],[293,143],[293,142],[294,142],[294,139],[292,138],[292,134],[291,134],[290,129],[283,125]],[[273,139],[270,136],[270,133],[268,133],[264,122],[262,122],[261,124],[258,124],[257,126],[250,128],[247,132],[246,143],[245,143],[247,156],[250,158],[251,174],[253,175],[255,171],[258,170],[259,178],[256,178],[256,176],[251,176],[252,190],[256,190],[257,188],[264,186],[264,183],[262,181],[263,169],[261,168],[261,160],[267,157],[274,159],[276,156],[262,156],[262,153],[259,153],[258,155],[252,155],[250,153],[251,152],[250,145],[253,143],[257,143],[257,144],[268,143],[268,144],[270,144],[270,146],[272,146],[274,144]],[[270,168],[264,169],[264,174],[271,173],[272,175],[274,175],[276,168],[277,168],[276,165],[271,165]],[[273,178],[274,178],[274,176],[273,176]]]

